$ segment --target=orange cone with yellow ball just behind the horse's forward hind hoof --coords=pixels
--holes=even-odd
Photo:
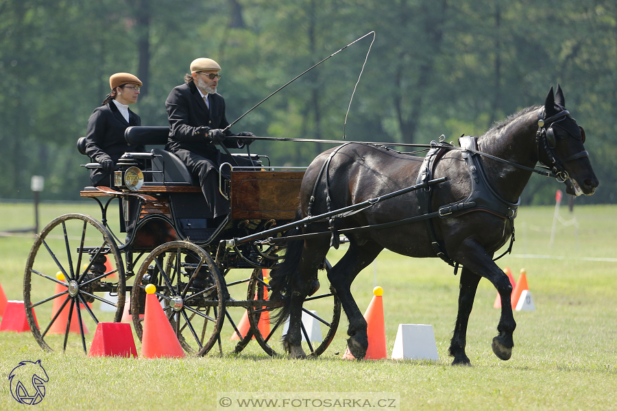
[[[383,360],[388,358],[385,342],[385,323],[383,321],[383,288],[375,287],[373,289],[373,299],[369,304],[364,319],[366,320],[366,334],[368,336],[369,346],[366,350],[365,360]],[[345,360],[355,360],[356,358],[349,351],[349,347],[343,354]]]

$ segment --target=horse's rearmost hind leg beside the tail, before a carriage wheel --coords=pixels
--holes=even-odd
[[[295,284],[292,284],[291,302],[289,306],[289,328],[283,338],[283,347],[289,352],[289,358],[306,358],[306,353],[302,349],[302,304],[306,296],[311,294],[317,279],[317,270],[324,262],[330,239],[323,238],[306,240],[302,257],[300,258],[300,275],[296,277]]]

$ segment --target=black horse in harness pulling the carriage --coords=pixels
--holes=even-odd
[[[345,145],[317,156],[302,181],[298,218],[339,210],[413,186],[423,181],[422,176],[418,177],[420,169],[423,173],[428,171],[432,178],[447,179],[427,185],[426,189],[380,201],[334,222],[302,227],[304,234],[333,232],[333,235],[290,241],[285,260],[271,272],[271,299],[282,303],[278,318],[290,316],[283,345],[291,358],[305,356],[300,335],[302,303],[318,287],[317,270],[323,266],[331,241],[337,245],[337,230],[409,219],[426,208],[428,197],[430,206],[426,211],[439,210],[441,215],[436,218],[346,232],[349,249],[329,271],[328,279],[349,319],[348,347],[359,359],[364,358],[368,347],[367,323],[350,286],[356,275],[386,248],[410,257],[440,256],[452,265],[462,266],[459,312],[450,342],[452,364],[470,364],[465,355],[465,338],[476,288],[481,277],[492,282],[501,296],[502,307],[497,326],[499,334],[493,338],[492,349],[498,358],[508,360],[516,327],[510,301],[512,287],[507,275],[495,264],[494,253],[513,235],[518,199],[538,161],[553,170],[553,177],[557,175],[565,182],[569,194],[594,193],[598,179],[584,151],[584,141],[585,133],[570,117],[563,92],[557,86],[556,94],[553,88],[548,92],[544,107],[524,109],[477,138],[477,145],[468,145],[475,153],[452,146],[434,150],[435,158],[428,167],[421,166],[422,158],[362,144]],[[472,154],[480,158],[479,163],[469,162]],[[324,162],[329,162],[328,166]],[[472,192],[475,197],[470,197]]]

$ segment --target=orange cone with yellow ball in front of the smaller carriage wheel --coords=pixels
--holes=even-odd
[[[141,356],[143,358],[184,357],[180,341],[154,294],[156,286],[148,284],[145,290],[147,295],[141,337]]]

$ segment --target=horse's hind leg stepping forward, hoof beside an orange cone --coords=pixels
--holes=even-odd
[[[352,355],[359,360],[364,358],[368,348],[367,323],[351,294],[350,287],[356,275],[373,262],[381,250],[383,247],[376,242],[370,241],[359,246],[352,240],[345,256],[328,273],[330,284],[335,288],[349,319],[347,334],[350,338],[347,340],[347,346]]]

